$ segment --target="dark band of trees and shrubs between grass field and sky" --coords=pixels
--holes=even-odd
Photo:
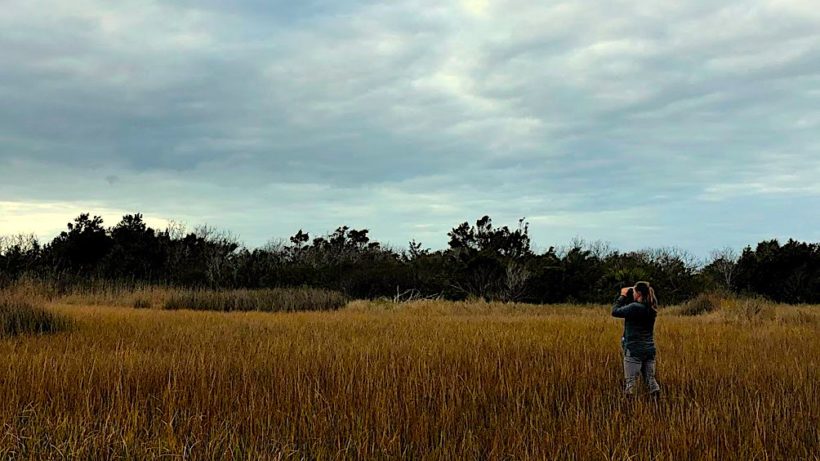
[[[64,284],[108,280],[181,287],[312,286],[352,298],[468,297],[534,303],[607,302],[619,287],[649,280],[665,304],[703,291],[758,294],[788,303],[820,302],[820,246],[764,241],[740,255],[713,252],[698,261],[674,248],[619,252],[600,242],[535,251],[524,220],[496,227],[485,216],[449,233],[446,249],[410,242],[394,249],[367,229],[338,228],[250,249],[209,227],[186,231],[126,215],[113,227],[82,214],[51,242],[34,236],[0,241],[0,286],[21,277]]]

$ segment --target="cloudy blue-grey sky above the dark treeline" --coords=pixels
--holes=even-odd
[[[0,235],[820,241],[817,0],[2,0]]]

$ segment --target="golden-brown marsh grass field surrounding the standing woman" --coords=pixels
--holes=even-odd
[[[606,306],[45,304],[73,326],[0,339],[0,459],[820,459],[817,307],[663,313],[655,402]]]

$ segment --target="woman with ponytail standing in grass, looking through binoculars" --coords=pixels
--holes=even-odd
[[[638,375],[643,374],[649,387],[649,395],[657,397],[660,386],[655,380],[655,317],[658,314],[658,298],[649,282],[638,282],[634,287],[621,290],[612,316],[624,319],[624,335],[621,345],[624,352],[624,377],[626,395],[635,395]]]

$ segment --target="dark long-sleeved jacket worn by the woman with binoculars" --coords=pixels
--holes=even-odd
[[[624,336],[621,344],[624,353],[642,360],[655,358],[655,317],[657,312],[646,304],[628,302],[618,296],[612,306],[612,316],[624,319]]]

